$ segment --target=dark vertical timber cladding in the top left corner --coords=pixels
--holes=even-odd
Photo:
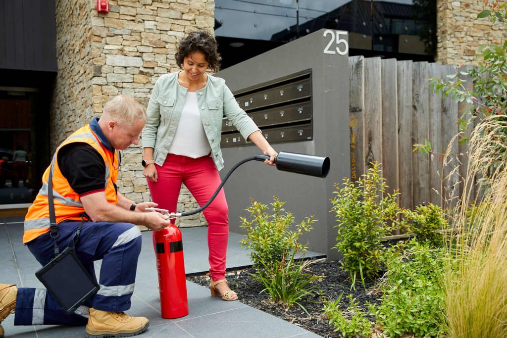
[[[0,1],[0,69],[56,71],[55,0]]]

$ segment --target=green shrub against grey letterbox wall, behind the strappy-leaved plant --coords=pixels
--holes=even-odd
[[[267,205],[252,199],[246,209],[251,220],[240,218],[240,227],[246,230],[246,238],[240,241],[241,246],[252,250],[249,256],[259,269],[267,267],[273,270],[288,252],[306,252],[308,246],[298,243],[298,239],[313,228],[311,224],[315,221],[314,216],[310,216],[294,226],[294,216],[283,209],[285,202],[276,196],[273,199],[272,214],[268,213]],[[293,226],[295,230],[291,230]]]

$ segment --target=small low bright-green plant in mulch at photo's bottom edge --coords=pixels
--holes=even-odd
[[[355,298],[349,294],[349,305],[347,311],[340,310],[341,298],[340,296],[335,301],[328,301],[324,304],[324,314],[328,316],[329,323],[335,327],[335,332],[340,332],[345,338],[356,337],[368,337],[373,332],[372,323],[366,317],[366,314],[359,308],[359,303],[355,301]]]

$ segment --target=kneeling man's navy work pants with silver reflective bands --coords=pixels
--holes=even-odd
[[[60,252],[73,246],[73,238],[80,223],[81,221],[64,221],[58,224],[57,243]],[[49,232],[26,245],[43,266],[54,257],[54,244]],[[18,288],[14,325],[86,325],[89,307],[111,312],[130,309],[137,259],[141,251],[139,229],[130,223],[83,222],[75,250],[93,277],[93,262],[102,259],[99,291],[74,314],[69,315],[46,289]]]

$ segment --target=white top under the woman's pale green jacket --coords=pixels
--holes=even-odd
[[[197,159],[211,152],[201,114],[197,103],[197,93],[187,92],[182,115],[179,118],[176,133],[169,147],[169,154],[181,155]]]

